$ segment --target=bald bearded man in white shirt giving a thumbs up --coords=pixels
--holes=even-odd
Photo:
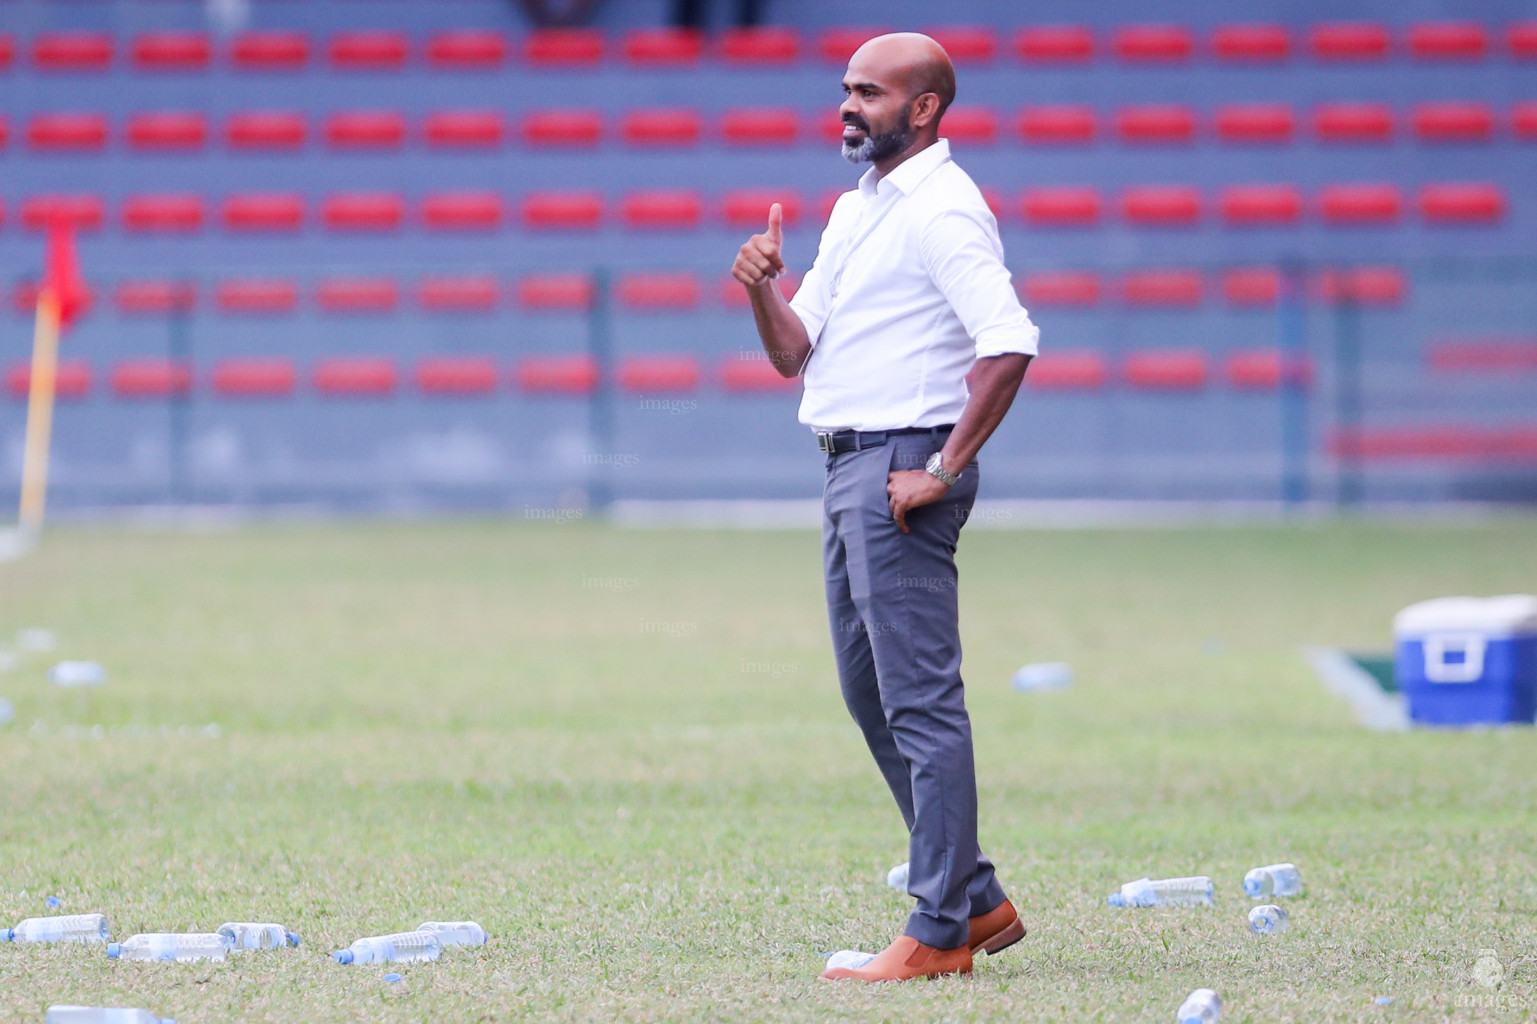
[[[873,165],[833,206],[795,301],[781,217],[732,272],[768,358],[802,374],[801,421],[827,457],[822,561],[844,701],[908,827],[904,933],[828,979],[967,973],[1025,926],[976,838],[971,721],[961,683],[954,550],[976,454],[1036,352],[998,221],[950,158],[939,121],[954,68],[927,35],[881,35],[844,75],[844,157]],[[971,386],[967,389],[967,374]]]

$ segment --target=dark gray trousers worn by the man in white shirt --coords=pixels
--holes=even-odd
[[[887,474],[922,469],[944,432],[827,457],[822,564],[844,703],[864,730],[908,829],[907,935],[967,944],[967,918],[1004,901],[976,841],[971,720],[961,683],[956,541],[976,500],[978,464],[898,529]]]

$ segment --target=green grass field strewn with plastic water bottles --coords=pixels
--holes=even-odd
[[[982,841],[1030,936],[871,989],[816,979],[910,901],[815,534],[58,529],[0,566],[0,637],[60,637],[0,675],[0,919],[57,895],[114,938],[272,919],[304,944],[0,946],[0,1019],[1171,1021],[1197,986],[1231,1022],[1537,1016],[1537,736],[1365,732],[1297,653],[1537,589],[1537,521],[971,532],[961,563]],[[111,681],[49,687],[55,658]],[[1042,660],[1076,686],[1011,692]],[[1259,939],[1239,879],[1279,859],[1308,889]],[[1210,873],[1217,906],[1105,906],[1150,873]],[[398,984],[329,959],[429,918],[492,941]]]

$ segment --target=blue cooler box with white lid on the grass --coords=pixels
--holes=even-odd
[[[1393,618],[1393,641],[1409,721],[1529,724],[1537,716],[1537,597],[1420,601]]]

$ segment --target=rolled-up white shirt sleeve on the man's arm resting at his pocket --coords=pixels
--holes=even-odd
[[[976,358],[1005,352],[1036,355],[1041,329],[1019,304],[1004,266],[1004,246],[982,217],[964,209],[944,211],[924,226],[919,255],[976,344]]]

